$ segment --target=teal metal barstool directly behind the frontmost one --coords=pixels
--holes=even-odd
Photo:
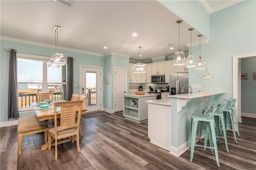
[[[225,108],[226,104],[224,103],[220,103],[220,102],[217,102],[215,104],[215,107],[217,108],[215,113],[214,113],[214,119],[215,119],[215,128],[216,128],[216,139],[217,139],[217,142],[220,143],[220,138],[224,138],[225,140],[225,145],[226,145],[226,150],[227,150],[227,153],[229,153],[229,150],[228,150],[228,141],[227,141],[227,135],[226,135],[226,128],[225,126],[222,126],[222,130],[223,130],[223,136],[220,136],[220,122],[221,122],[221,125],[225,125],[225,121],[224,121],[224,114],[223,114],[223,109]],[[204,110],[203,110],[203,113],[204,113]],[[209,123],[206,122],[206,126],[209,126]],[[221,131],[222,131],[221,130]],[[200,132],[202,132],[202,123],[201,123],[201,127],[200,127]],[[201,133],[200,133],[201,135]],[[208,136],[208,131],[205,131],[205,136],[207,137]],[[199,138],[201,139],[201,138]],[[208,141],[208,138],[205,138],[204,139],[204,146],[207,145],[207,141]],[[204,148],[204,150],[206,150],[206,147]]]

